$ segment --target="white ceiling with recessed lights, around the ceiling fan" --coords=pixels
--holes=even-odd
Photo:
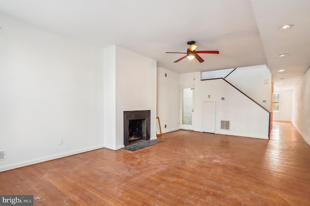
[[[180,74],[266,64],[277,90],[294,88],[310,66],[310,0],[0,0],[0,14]],[[294,27],[280,31],[285,24]],[[220,54],[173,63],[184,55],[165,52],[186,52],[188,41]]]

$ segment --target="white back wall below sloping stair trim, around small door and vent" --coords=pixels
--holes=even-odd
[[[223,79],[200,81],[200,73],[181,74],[181,84],[195,85],[194,131],[202,132],[202,103],[216,102],[216,133],[268,139],[269,113]],[[210,98],[208,98],[210,95]],[[225,101],[221,98],[224,97]],[[220,130],[220,120],[230,120],[231,130]]]

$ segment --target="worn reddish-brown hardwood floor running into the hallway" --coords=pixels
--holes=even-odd
[[[106,148],[0,173],[34,205],[309,206],[310,147],[289,122],[270,140],[176,131],[135,152]]]

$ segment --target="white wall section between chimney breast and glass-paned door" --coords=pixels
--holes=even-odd
[[[165,76],[167,74],[167,77]],[[180,74],[157,67],[157,117],[161,132],[180,129]],[[167,127],[165,128],[165,125]]]

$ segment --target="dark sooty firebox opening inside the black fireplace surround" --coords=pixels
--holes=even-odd
[[[146,139],[146,122],[145,119],[129,120],[129,145],[136,144]]]

